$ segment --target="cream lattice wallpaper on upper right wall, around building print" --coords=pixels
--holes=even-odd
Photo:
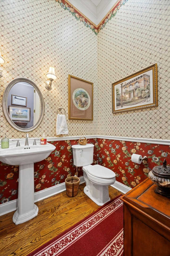
[[[170,139],[170,1],[128,0],[97,36],[100,135]],[[112,114],[112,86],[158,65],[158,107]]]

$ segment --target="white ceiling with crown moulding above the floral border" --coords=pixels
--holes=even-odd
[[[95,25],[99,25],[117,0],[68,0]]]

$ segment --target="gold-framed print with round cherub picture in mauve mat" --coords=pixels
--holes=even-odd
[[[93,120],[93,83],[69,75],[69,119]]]

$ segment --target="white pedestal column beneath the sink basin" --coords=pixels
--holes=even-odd
[[[34,164],[19,166],[18,209],[12,221],[18,225],[38,214],[38,207],[34,204]]]

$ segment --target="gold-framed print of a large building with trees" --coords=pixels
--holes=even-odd
[[[158,106],[157,64],[112,83],[112,112]]]

